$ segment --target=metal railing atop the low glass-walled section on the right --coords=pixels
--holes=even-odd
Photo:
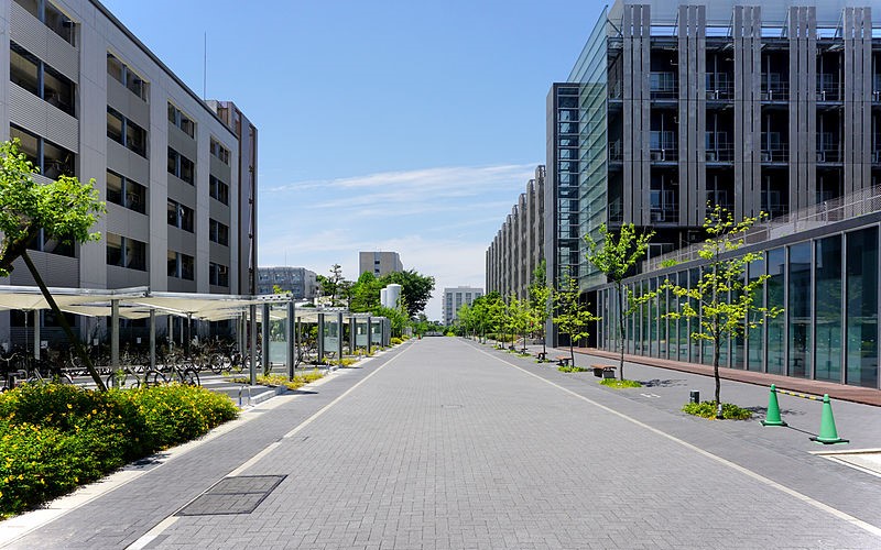
[[[807,229],[822,228],[837,221],[878,211],[881,211],[881,186],[862,189],[757,223],[742,235],[743,242],[746,244],[761,243],[779,237],[795,234]],[[642,272],[649,273],[657,270],[665,262],[673,261],[675,264],[682,264],[697,260],[701,245],[703,243],[696,243],[644,260],[642,262]]]

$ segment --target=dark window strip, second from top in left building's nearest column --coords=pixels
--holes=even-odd
[[[9,44],[9,79],[51,106],[76,117],[76,85],[14,42]]]

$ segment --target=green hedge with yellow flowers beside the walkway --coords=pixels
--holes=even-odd
[[[181,385],[100,393],[24,384],[0,394],[0,518],[237,415],[227,396]]]

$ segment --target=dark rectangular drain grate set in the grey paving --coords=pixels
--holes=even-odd
[[[286,475],[239,475],[224,477],[215,486],[181,508],[175,516],[250,514],[279,486]]]

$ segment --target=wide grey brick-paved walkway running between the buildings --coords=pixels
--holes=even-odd
[[[695,419],[678,413],[689,376],[634,366],[651,385],[611,391],[466,340],[411,341],[11,547],[881,547],[881,477],[809,452],[827,450],[807,441],[816,402],[781,404],[793,428]],[[766,405],[759,386],[722,392]],[[842,437],[881,447],[878,409],[840,405]]]

